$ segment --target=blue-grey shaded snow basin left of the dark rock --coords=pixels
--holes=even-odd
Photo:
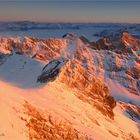
[[[43,63],[13,53],[1,65],[0,79],[21,88],[36,88],[39,86],[36,80],[43,67]]]

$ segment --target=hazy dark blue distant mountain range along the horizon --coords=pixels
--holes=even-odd
[[[39,23],[31,21],[0,22],[0,31],[28,31],[37,29],[81,29],[82,27],[130,27],[135,28],[139,24],[119,23]]]

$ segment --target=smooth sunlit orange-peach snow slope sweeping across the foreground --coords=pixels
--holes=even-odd
[[[97,140],[131,139],[133,135],[139,137],[136,122],[124,116],[119,106],[114,110],[114,120],[108,120],[90,104],[79,100],[74,91],[63,84],[51,83],[42,89],[32,90],[19,89],[4,82],[0,84],[2,140],[28,139],[28,128],[20,120],[21,116],[26,118],[22,111],[25,100],[38,111],[57,116],[57,120],[67,120],[78,131]],[[28,116],[27,120],[32,117]]]

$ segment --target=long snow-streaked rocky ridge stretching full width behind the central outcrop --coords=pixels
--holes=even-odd
[[[139,41],[124,32],[122,41],[126,40],[129,40],[132,45]],[[130,92],[136,95],[140,94],[138,84],[140,58],[137,55],[139,46],[136,46],[136,50],[131,48],[132,52],[130,53],[130,49],[127,47],[125,49],[121,44],[118,48],[109,38],[99,39],[93,43],[84,36],[73,40],[24,37],[21,41],[20,38],[2,38],[0,45],[1,53],[12,54],[12,51],[15,50],[17,53],[25,54],[43,63],[49,63],[60,57],[76,61],[93,75],[99,75],[103,81],[106,82],[106,77],[109,77]],[[127,55],[121,53],[123,51],[127,51]]]

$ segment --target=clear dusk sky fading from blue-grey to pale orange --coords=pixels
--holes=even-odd
[[[0,0],[0,21],[140,23],[140,0]]]

